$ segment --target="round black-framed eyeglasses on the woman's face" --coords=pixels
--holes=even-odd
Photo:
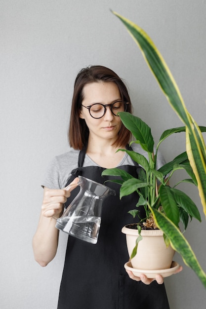
[[[110,110],[113,115],[118,116],[117,114],[119,112],[126,111],[127,104],[128,104],[127,102],[117,101],[112,104],[105,104],[105,105],[101,103],[94,103],[89,106],[84,106],[82,104],[81,105],[89,111],[89,114],[90,116],[92,116],[92,118],[99,119],[105,115],[107,106],[110,107]]]

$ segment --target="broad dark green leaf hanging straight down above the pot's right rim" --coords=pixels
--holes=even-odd
[[[168,186],[161,186],[159,193],[161,205],[163,206],[166,217],[168,217],[176,226],[178,226],[179,209],[173,197],[171,188]]]

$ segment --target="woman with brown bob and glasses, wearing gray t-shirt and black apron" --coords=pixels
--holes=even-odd
[[[69,127],[72,149],[53,159],[42,184],[41,216],[33,239],[35,259],[41,266],[56,254],[59,231],[53,218],[60,217],[63,205],[77,194],[76,189],[71,192],[62,188],[76,184],[78,175],[103,184],[104,168],[117,166],[137,177],[137,163],[125,152],[117,152],[128,148],[131,137],[117,113],[131,109],[126,86],[112,70],[91,66],[79,72]],[[137,144],[132,149],[146,156]],[[159,166],[163,163],[159,156]],[[103,205],[97,244],[68,237],[58,309],[167,309],[162,276],[152,280],[144,274],[135,277],[129,271],[128,276],[124,270],[128,253],[121,229],[132,222],[127,212],[132,204],[135,206],[137,196],[133,193],[120,201],[119,186],[110,182],[107,185],[117,195],[107,197]]]

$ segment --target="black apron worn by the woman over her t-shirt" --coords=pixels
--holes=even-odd
[[[102,167],[82,167],[84,157],[85,151],[81,151],[78,168],[72,171],[67,185],[79,175],[101,184],[114,179],[111,176],[102,177]],[[138,165],[119,168],[138,177]],[[125,235],[121,230],[124,225],[137,222],[137,218],[133,219],[128,211],[135,209],[138,194],[133,193],[120,200],[120,185],[107,182],[106,186],[117,194],[106,197],[103,202],[97,243],[68,237],[58,309],[169,309],[164,284],[154,281],[145,285],[134,281],[124,269],[129,257]],[[79,190],[78,187],[71,192],[66,208]],[[143,207],[140,215],[144,217]]]

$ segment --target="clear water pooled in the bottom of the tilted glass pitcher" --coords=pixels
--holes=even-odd
[[[100,217],[71,216],[58,219],[58,229],[90,243],[97,243]]]

